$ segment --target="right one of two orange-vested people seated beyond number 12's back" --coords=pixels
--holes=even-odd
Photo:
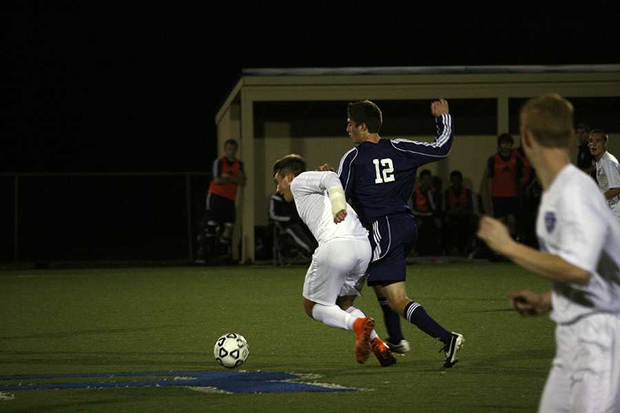
[[[466,255],[474,235],[474,204],[471,190],[463,186],[461,171],[452,171],[451,185],[444,192],[446,252]]]

